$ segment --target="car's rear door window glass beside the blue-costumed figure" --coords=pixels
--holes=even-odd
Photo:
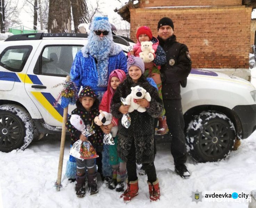
[[[50,76],[69,75],[76,53],[82,45],[50,45],[41,55],[41,74]]]

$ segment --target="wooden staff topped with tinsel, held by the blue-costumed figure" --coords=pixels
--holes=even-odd
[[[58,166],[58,177],[55,183],[55,187],[57,191],[60,191],[61,185],[61,174],[62,174],[62,166],[63,166],[63,156],[64,156],[64,147],[65,147],[65,138],[66,138],[66,121],[67,121],[67,112],[68,112],[68,104],[75,104],[77,96],[77,87],[73,81],[70,81],[70,76],[66,77],[66,81],[64,83],[60,83],[55,85],[57,87],[59,85],[63,85],[63,89],[59,93],[54,106],[58,105],[58,102],[61,101],[60,106],[63,107],[63,122],[62,122],[62,131],[61,131],[61,141],[60,141],[60,153],[59,153],[59,166]]]

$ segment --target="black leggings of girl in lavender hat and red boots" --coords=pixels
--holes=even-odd
[[[137,177],[137,165],[136,165],[136,157],[135,157],[135,146],[134,142],[132,142],[132,146],[130,149],[130,153],[127,157],[126,169],[128,175],[128,181],[136,181]],[[148,181],[153,183],[156,181],[156,168],[154,162],[152,163],[143,163],[144,168],[146,170]]]

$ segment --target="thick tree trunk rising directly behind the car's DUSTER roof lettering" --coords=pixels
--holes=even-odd
[[[49,33],[71,33],[71,2],[70,0],[50,0]]]

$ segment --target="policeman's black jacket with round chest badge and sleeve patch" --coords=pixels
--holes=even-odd
[[[181,99],[180,83],[187,83],[192,64],[188,47],[177,42],[175,35],[166,41],[157,38],[166,53],[166,64],[160,70],[163,99]]]

